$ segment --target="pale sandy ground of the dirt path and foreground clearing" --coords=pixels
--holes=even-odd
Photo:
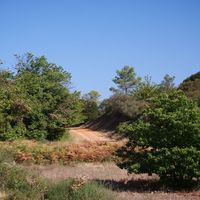
[[[109,133],[92,131],[85,128],[72,128],[70,133],[73,142],[84,141],[113,141]],[[76,163],[69,166],[48,165],[30,167],[40,176],[53,181],[61,181],[68,178],[94,180],[103,183],[113,189],[117,200],[200,200],[200,192],[174,192],[162,188],[150,186],[158,179],[156,175],[147,174],[128,175],[115,163]]]

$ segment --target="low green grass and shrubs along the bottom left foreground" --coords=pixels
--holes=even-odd
[[[22,167],[0,163],[0,190],[6,199],[20,200],[112,200],[113,195],[103,186],[78,180],[48,182]]]

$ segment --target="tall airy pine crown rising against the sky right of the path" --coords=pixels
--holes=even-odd
[[[121,70],[117,70],[116,73],[117,75],[113,79],[113,82],[117,85],[117,89],[111,87],[111,91],[130,94],[137,89],[141,78],[136,76],[133,67],[124,66]]]

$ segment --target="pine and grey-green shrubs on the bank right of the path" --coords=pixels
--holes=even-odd
[[[119,116],[127,120],[134,120],[142,113],[149,100],[162,92],[170,93],[176,90],[174,76],[165,75],[160,84],[152,82],[151,77],[144,79],[138,77],[133,67],[124,66],[116,71],[113,82],[116,87],[111,87],[113,95],[105,99],[100,107],[104,114],[111,118]]]

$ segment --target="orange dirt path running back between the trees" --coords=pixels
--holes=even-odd
[[[113,141],[108,132],[92,131],[87,128],[71,128],[70,134],[75,142],[89,141],[89,142],[98,142],[98,141]]]

